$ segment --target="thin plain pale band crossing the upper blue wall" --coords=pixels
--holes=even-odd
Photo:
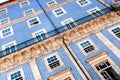
[[[46,12],[47,12],[47,11],[50,11],[50,10],[52,10],[52,9],[54,9],[54,8],[63,6],[63,5],[65,5],[65,4],[67,4],[67,3],[71,2],[71,1],[73,1],[73,0],[65,0],[65,1],[63,1],[63,2],[60,2],[60,3],[56,4],[56,5],[53,5],[53,6],[50,6],[50,7],[45,8],[45,11],[46,11]],[[44,11],[43,11],[43,10],[39,10],[38,12],[34,12],[33,14],[30,14],[30,15],[24,16],[24,17],[22,17],[22,18],[18,18],[18,19],[16,19],[16,20],[10,21],[10,22],[7,23],[7,24],[0,25],[0,29],[5,28],[5,27],[8,27],[8,26],[13,25],[13,24],[16,24],[16,23],[19,23],[19,22],[21,22],[21,21],[27,20],[27,19],[29,19],[29,18],[35,17],[35,16],[40,15],[40,14],[42,14],[42,13],[44,13]]]

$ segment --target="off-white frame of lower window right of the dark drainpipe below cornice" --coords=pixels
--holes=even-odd
[[[91,43],[91,45],[94,46],[95,50],[86,53],[86,52],[84,51],[84,48],[81,46],[81,43],[84,43],[84,42],[86,42],[86,41],[89,41],[89,42]],[[99,50],[98,46],[97,46],[90,38],[83,39],[83,40],[79,41],[79,42],[77,43],[77,46],[80,48],[80,50],[83,52],[83,54],[84,54],[85,56],[88,56],[89,54],[92,54],[92,53],[94,53],[94,52],[96,52],[96,51]]]

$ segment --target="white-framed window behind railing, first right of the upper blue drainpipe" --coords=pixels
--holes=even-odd
[[[70,29],[72,27],[75,27],[76,23],[72,18],[65,19],[61,22],[63,26],[65,26],[66,29]]]

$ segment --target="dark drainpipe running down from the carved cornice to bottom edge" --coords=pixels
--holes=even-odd
[[[72,56],[72,58],[74,59],[74,61],[76,62],[76,64],[78,65],[78,67],[80,68],[80,70],[82,71],[82,73],[85,75],[87,80],[90,80],[89,77],[86,75],[86,73],[84,72],[84,70],[81,68],[81,66],[79,65],[77,59],[75,58],[75,56],[72,54],[72,52],[70,51],[69,47],[67,46],[67,44],[65,43],[65,39],[63,38],[63,44],[65,45],[66,49],[68,50],[68,52],[70,53],[70,55]]]

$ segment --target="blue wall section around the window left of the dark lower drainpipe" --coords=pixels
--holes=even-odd
[[[45,65],[44,58],[46,56],[49,56],[52,53],[55,53],[55,52],[58,52],[60,58],[62,59],[62,61],[64,63],[64,66],[57,69],[57,70],[53,70],[52,72],[49,72],[46,65]],[[38,58],[37,59],[37,65],[38,65],[38,68],[39,68],[39,71],[41,73],[41,76],[42,76],[43,80],[47,80],[49,76],[53,76],[53,75],[65,70],[67,68],[71,68],[71,72],[72,72],[73,76],[75,77],[75,79],[82,80],[82,77],[80,75],[78,75],[79,72],[77,71],[76,67],[73,65],[72,61],[70,60],[70,58],[66,54],[66,51],[63,48],[61,48],[57,51],[47,53],[43,57]]]

